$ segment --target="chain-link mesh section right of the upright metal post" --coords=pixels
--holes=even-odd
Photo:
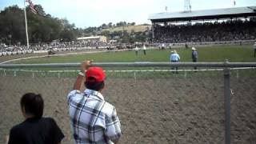
[[[256,143],[256,70],[231,70],[231,143]]]

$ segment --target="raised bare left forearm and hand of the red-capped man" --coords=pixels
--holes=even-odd
[[[81,71],[78,74],[77,80],[74,82],[73,90],[81,90],[82,83],[85,81],[85,78],[84,78],[85,72],[90,67],[92,62],[93,62],[92,60],[82,62],[81,67],[80,67]],[[83,76],[82,76],[82,74],[83,74]]]

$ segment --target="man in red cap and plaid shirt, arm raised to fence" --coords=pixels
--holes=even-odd
[[[90,65],[91,61],[82,62],[74,90],[67,96],[74,143],[117,143],[122,135],[118,115],[101,94],[106,75],[101,67]]]

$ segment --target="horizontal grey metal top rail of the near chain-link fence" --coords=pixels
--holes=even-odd
[[[78,66],[80,66],[80,63],[1,64],[0,68],[78,67]],[[92,66],[102,66],[102,67],[147,67],[147,66],[256,67],[256,62],[94,62]]]

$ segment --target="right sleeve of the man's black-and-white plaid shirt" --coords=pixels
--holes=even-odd
[[[121,124],[118,119],[117,112],[114,108],[113,113],[110,118],[106,119],[106,136],[110,138],[111,141],[117,140],[121,137]]]

